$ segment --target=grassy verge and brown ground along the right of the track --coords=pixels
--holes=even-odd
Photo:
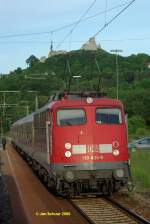
[[[114,200],[150,221],[150,150],[133,150],[130,159],[134,190],[124,188]]]

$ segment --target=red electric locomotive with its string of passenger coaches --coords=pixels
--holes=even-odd
[[[11,141],[50,190],[108,195],[128,183],[124,106],[95,92],[53,95],[11,126]]]

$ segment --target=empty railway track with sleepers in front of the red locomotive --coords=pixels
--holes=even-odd
[[[90,224],[150,224],[133,211],[109,198],[76,198],[70,203]]]

